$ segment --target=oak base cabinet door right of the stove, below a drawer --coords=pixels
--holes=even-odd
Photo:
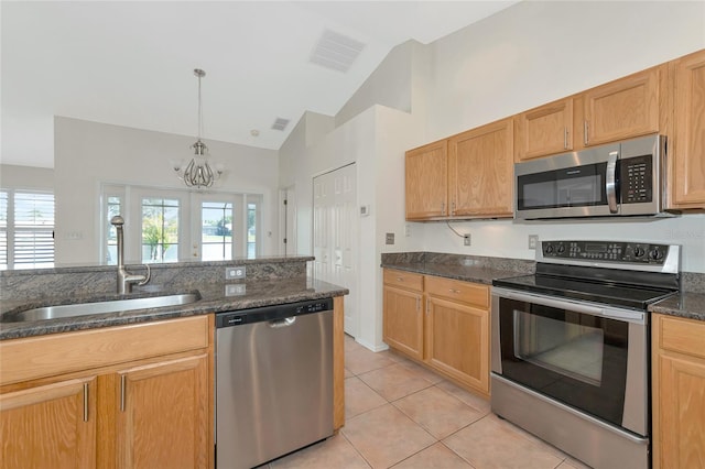
[[[661,468],[705,467],[705,360],[659,360],[659,462]]]

